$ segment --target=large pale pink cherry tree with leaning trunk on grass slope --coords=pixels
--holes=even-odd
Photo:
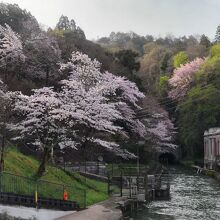
[[[15,112],[20,120],[11,126],[19,139],[26,139],[43,151],[38,169],[41,176],[54,146],[60,148],[99,145],[123,157],[134,157],[120,149],[115,135],[144,134],[144,125],[135,119],[135,109],[144,95],[125,78],[101,72],[101,64],[74,52],[70,62],[61,64],[67,79],[60,88],[33,90],[31,96],[16,96]]]

